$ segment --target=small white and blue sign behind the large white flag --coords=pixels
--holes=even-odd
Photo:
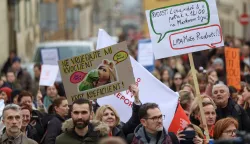
[[[150,39],[139,40],[137,60],[148,71],[154,70],[154,54]]]

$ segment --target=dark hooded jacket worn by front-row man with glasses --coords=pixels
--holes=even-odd
[[[179,144],[177,137],[171,133],[167,134],[165,128],[157,135],[157,141],[153,141],[146,134],[145,128],[140,124],[136,127],[131,144]]]

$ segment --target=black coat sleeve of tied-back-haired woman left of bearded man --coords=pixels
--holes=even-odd
[[[56,137],[61,134],[61,121],[57,118],[53,118],[47,127],[47,133],[44,139],[45,144],[55,144],[56,143]]]

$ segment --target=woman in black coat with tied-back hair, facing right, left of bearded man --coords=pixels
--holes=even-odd
[[[49,113],[54,113],[55,116],[49,121],[44,137],[45,144],[55,144],[56,137],[62,133],[62,123],[68,115],[68,101],[65,97],[55,99],[49,107]]]

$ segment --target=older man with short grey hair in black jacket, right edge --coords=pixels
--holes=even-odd
[[[250,132],[250,119],[246,111],[230,97],[229,88],[224,84],[216,84],[212,90],[213,100],[217,105],[217,120],[233,117],[239,123],[239,129]]]

